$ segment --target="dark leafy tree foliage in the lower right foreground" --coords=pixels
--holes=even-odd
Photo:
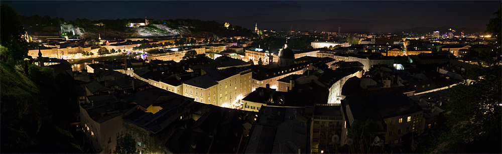
[[[500,151],[502,144],[502,71],[500,65],[471,70],[466,81],[450,88],[448,140],[487,141]],[[471,80],[469,82],[469,80]],[[485,148],[493,148],[486,145]],[[495,150],[495,149],[493,149]],[[490,151],[487,151],[490,152]]]

